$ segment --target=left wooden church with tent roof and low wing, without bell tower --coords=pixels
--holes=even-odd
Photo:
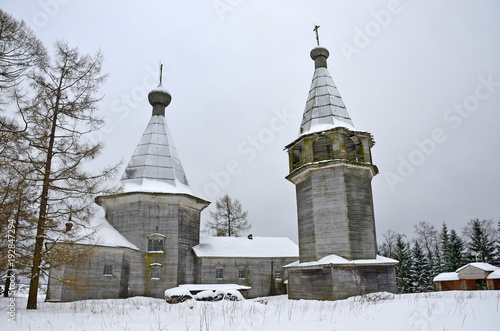
[[[192,193],[168,130],[164,115],[170,94],[159,86],[148,99],[152,116],[121,178],[122,192],[95,199],[105,211],[110,227],[105,235],[110,238],[106,245],[86,243],[93,250],[87,260],[53,268],[47,301],[163,298],[169,288],[203,283],[250,286],[247,297],[285,293],[282,267],[298,258],[297,245],[288,238],[263,240],[274,253],[248,249],[260,239],[231,238],[225,241],[235,246],[219,247],[218,256],[200,250],[200,256],[195,254],[201,246],[200,213],[209,202]],[[84,246],[54,244],[68,251]],[[243,255],[224,257],[244,251],[242,246],[247,247]],[[217,269],[223,277],[217,277]]]

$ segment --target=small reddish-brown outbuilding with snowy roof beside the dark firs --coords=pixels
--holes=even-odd
[[[489,263],[474,262],[455,272],[443,272],[434,277],[438,291],[500,290],[500,268]]]

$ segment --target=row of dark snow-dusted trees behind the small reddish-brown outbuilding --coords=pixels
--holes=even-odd
[[[472,219],[460,232],[446,223],[438,230],[424,221],[413,229],[413,238],[388,230],[378,248],[380,255],[399,261],[396,283],[401,293],[433,291],[436,275],[470,262],[500,266],[500,219]]]

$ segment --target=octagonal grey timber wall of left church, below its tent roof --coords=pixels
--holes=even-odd
[[[98,197],[106,219],[139,248],[131,264],[129,295],[163,297],[167,288],[194,283],[200,213],[208,202],[188,194],[131,192]],[[164,237],[162,251],[148,251],[148,238]],[[158,278],[151,267],[160,267]]]

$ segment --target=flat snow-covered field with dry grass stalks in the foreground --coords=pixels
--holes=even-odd
[[[187,301],[134,297],[44,303],[26,311],[16,298],[16,323],[1,298],[1,329],[17,330],[499,330],[500,291],[375,293],[336,302],[286,296],[246,301]]]

